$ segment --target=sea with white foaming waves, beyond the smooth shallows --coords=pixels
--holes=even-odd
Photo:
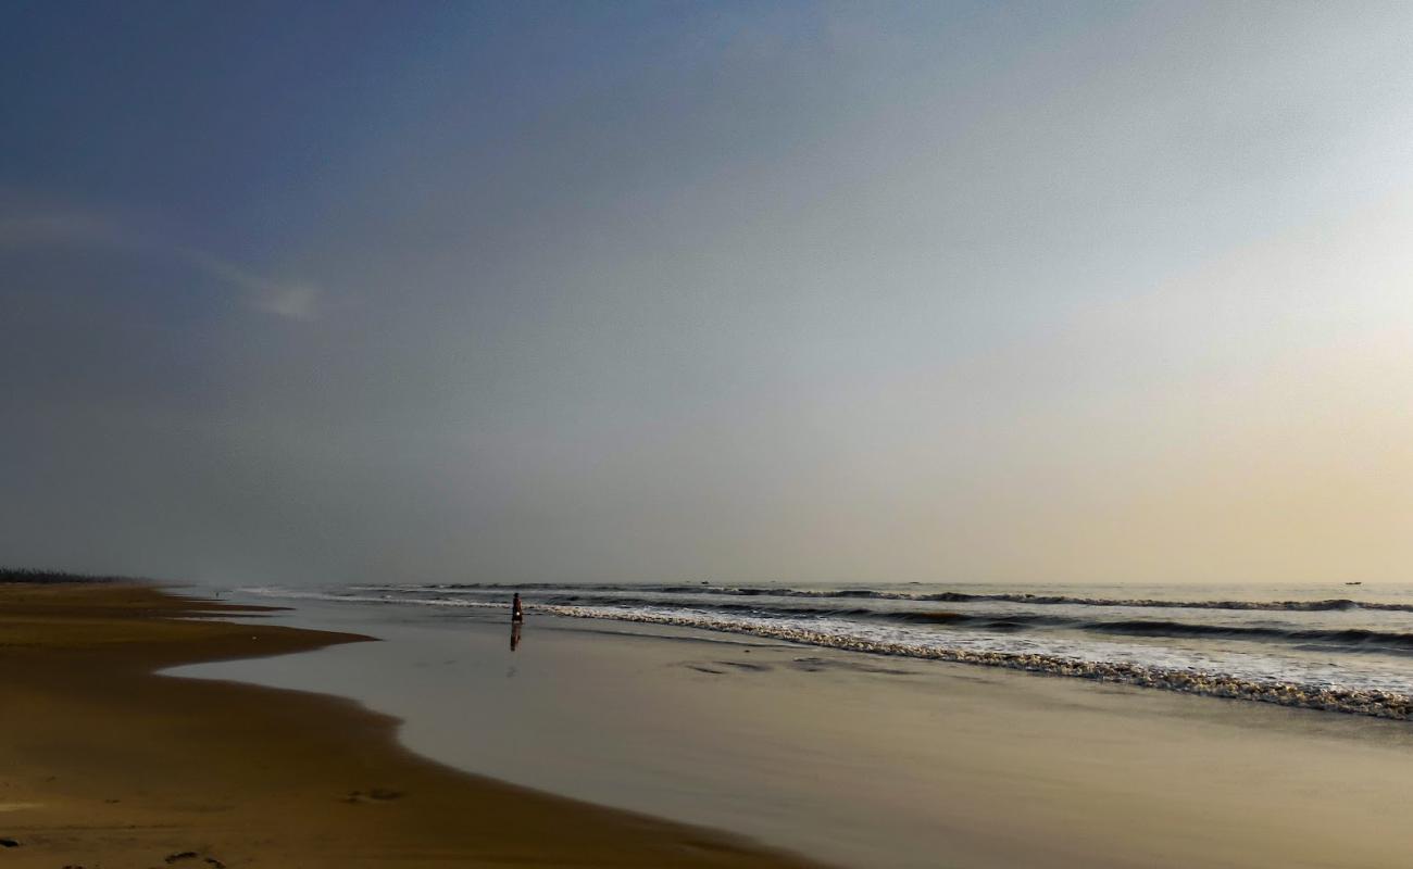
[[[1413,716],[1413,585],[253,586],[274,599],[673,625],[1381,718]]]

